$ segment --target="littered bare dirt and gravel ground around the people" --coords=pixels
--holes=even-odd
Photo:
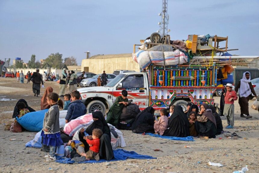
[[[25,80],[27,82],[27,80]],[[57,82],[46,82],[45,87],[51,86],[58,93]],[[219,135],[215,139],[198,139],[195,142],[174,141],[151,136],[135,134],[122,130],[126,142],[123,149],[135,151],[143,155],[151,155],[157,159],[65,165],[57,162],[44,162],[46,154],[36,148],[25,148],[25,144],[34,138],[36,133],[12,133],[4,131],[5,122],[12,117],[17,100],[25,99],[35,110],[40,109],[41,97],[34,97],[32,83],[21,84],[12,78],[0,78],[0,172],[233,172],[248,165],[249,173],[259,172],[258,163],[258,111],[251,108],[251,119],[240,118],[238,101],[235,101],[235,127],[227,130],[236,132],[242,138],[227,139]],[[41,89],[41,96],[44,93]],[[68,88],[66,89],[68,92]],[[214,97],[219,103],[220,98]],[[7,101],[2,101],[7,100]],[[249,104],[254,100],[250,100]],[[249,106],[249,107],[250,107]],[[226,127],[226,117],[221,117],[223,127]],[[219,138],[222,139],[219,139]],[[15,140],[10,140],[15,139]],[[190,146],[191,148],[185,148]],[[161,149],[154,151],[154,149]],[[221,163],[223,167],[209,166],[207,162]]]

